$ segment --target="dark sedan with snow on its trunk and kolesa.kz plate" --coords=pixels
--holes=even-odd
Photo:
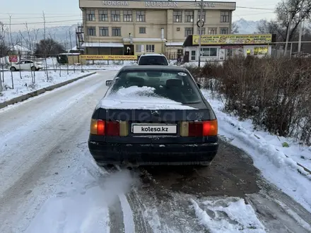
[[[88,148],[98,165],[203,165],[218,151],[218,123],[180,66],[124,66],[95,107]]]

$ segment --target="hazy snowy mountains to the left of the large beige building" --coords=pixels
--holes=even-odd
[[[71,49],[71,44],[72,47],[76,46],[76,28],[76,24],[45,28],[45,37],[52,38],[53,40],[60,42],[64,45],[66,49]],[[42,39],[44,39],[43,28],[37,30],[30,30],[30,36],[28,36],[27,30],[12,32],[13,43],[18,43],[25,47],[30,47],[29,41],[33,41],[35,43],[39,42]],[[6,36],[6,40],[8,40],[8,36]]]

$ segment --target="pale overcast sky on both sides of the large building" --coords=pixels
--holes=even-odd
[[[274,8],[278,1],[280,0],[236,0],[237,9],[233,13],[233,20],[274,18]],[[3,0],[0,7],[0,21],[8,24],[11,15],[12,31],[23,30],[26,22],[29,28],[42,28],[43,11],[47,27],[81,22],[78,0]]]

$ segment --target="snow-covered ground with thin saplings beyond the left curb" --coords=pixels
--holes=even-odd
[[[13,89],[11,89],[11,72],[3,72],[1,73],[1,78],[4,79],[3,86],[5,90],[0,94],[0,102],[5,102],[20,95],[25,95],[35,90],[46,88],[50,85],[65,82],[66,80],[78,78],[89,72],[90,71],[69,71],[67,73],[67,71],[48,71],[49,80],[47,80],[47,74],[45,71],[37,71],[35,72],[35,76],[34,72],[30,71],[13,72]],[[33,78],[35,79],[35,85],[32,84]]]

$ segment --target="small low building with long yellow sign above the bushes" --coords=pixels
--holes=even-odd
[[[201,61],[224,61],[228,56],[271,55],[273,34],[262,35],[202,35]],[[199,35],[189,35],[183,44],[184,62],[199,61]]]

